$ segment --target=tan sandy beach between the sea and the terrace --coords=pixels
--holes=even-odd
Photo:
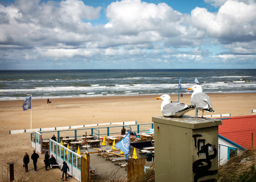
[[[208,93],[216,113],[204,112],[204,115],[228,114],[242,116],[256,114],[256,93]],[[137,121],[137,124],[152,122],[152,117],[162,115],[160,112],[161,95],[118,96],[94,98],[61,98],[32,100],[32,128],[76,126],[95,123]],[[180,102],[190,105],[191,94],[183,94]],[[178,101],[178,94],[171,95],[172,101]],[[30,129],[30,110],[22,110],[23,100],[0,101],[0,136],[1,136],[1,166],[2,174],[6,174],[7,164],[14,162],[15,179],[25,174],[23,155],[27,151],[31,156],[33,148],[30,147],[30,133],[10,135],[10,130]],[[187,115],[195,116],[195,110]],[[199,111],[198,115],[202,115]],[[30,172],[27,178],[45,179],[48,175],[51,181],[59,181],[61,172],[58,170],[44,170],[44,155],[39,155],[37,172],[32,172],[33,162],[28,164]],[[9,175],[9,174],[8,174]],[[48,178],[48,179],[49,179]],[[76,181],[70,179],[69,181]]]

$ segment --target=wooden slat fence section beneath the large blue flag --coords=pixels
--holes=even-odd
[[[146,159],[129,159],[127,161],[127,180],[131,177],[138,176],[143,173]]]

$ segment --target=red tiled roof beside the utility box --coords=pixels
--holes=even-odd
[[[251,149],[253,133],[253,149],[256,149],[256,115],[220,118],[219,135],[236,144]]]

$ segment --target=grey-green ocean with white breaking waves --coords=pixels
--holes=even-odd
[[[0,70],[0,100],[187,94],[197,80],[205,93],[256,92],[256,69]]]

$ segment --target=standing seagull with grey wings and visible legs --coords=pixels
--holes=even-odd
[[[198,118],[198,110],[203,111],[202,118],[204,116],[204,111],[215,113],[215,111],[212,110],[212,102],[209,96],[203,93],[203,89],[200,85],[194,85],[193,87],[188,88],[188,90],[193,90],[190,102],[191,104],[196,105],[196,118]]]

